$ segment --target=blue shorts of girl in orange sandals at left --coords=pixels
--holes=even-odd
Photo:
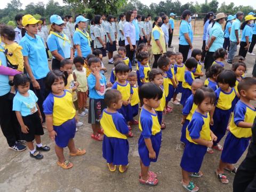
[[[55,136],[55,143],[59,147],[67,147],[70,139],[75,137],[76,133],[76,119],[69,119],[59,126],[53,125],[54,131],[57,133]]]

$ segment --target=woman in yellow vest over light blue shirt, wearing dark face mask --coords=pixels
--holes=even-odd
[[[165,47],[165,38],[164,38],[164,32],[161,28],[163,25],[162,18],[160,16],[155,17],[153,23],[153,30],[151,33],[151,51],[154,54],[154,63],[153,68],[157,68],[157,60],[162,55],[162,53],[166,53],[166,47]]]

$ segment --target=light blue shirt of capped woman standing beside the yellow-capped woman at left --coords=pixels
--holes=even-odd
[[[68,39],[68,36],[63,34],[63,33],[58,33],[58,35],[65,37],[66,39]],[[71,48],[71,42],[67,42],[65,41],[65,45],[63,45],[64,40],[53,35],[50,34],[47,38],[47,45],[49,47],[49,50],[55,51],[57,50],[58,53],[65,59],[70,58],[70,48]],[[55,59],[55,57],[53,57]]]

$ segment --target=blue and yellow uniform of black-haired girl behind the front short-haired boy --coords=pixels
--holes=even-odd
[[[125,81],[125,85],[115,82],[112,89],[120,91],[122,94],[122,99],[125,101],[127,101],[131,94],[133,94],[132,86],[128,81]],[[122,105],[121,109],[118,109],[118,112],[124,116],[126,122],[132,121],[133,116],[131,103],[129,103],[127,106]]]

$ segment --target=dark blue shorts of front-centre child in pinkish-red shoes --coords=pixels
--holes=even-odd
[[[150,139],[151,139],[152,147],[153,147],[153,149],[156,153],[156,158],[155,159],[149,158],[148,148],[145,144],[145,140],[144,140],[142,135],[140,135],[140,138],[139,138],[139,141],[138,141],[138,151],[139,151],[140,159],[141,159],[143,165],[145,165],[145,166],[149,166],[150,162],[156,162],[157,161],[157,157],[158,157],[158,154],[159,154],[159,151],[160,151],[160,148],[161,148],[162,131],[160,131],[156,135],[151,135]]]

